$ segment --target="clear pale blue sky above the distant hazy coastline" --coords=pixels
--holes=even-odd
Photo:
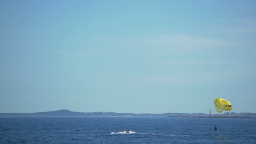
[[[256,112],[254,0],[1,0],[0,112]]]

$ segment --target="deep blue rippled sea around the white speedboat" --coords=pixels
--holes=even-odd
[[[214,131],[214,127],[217,131]],[[130,129],[131,133],[124,132]],[[256,144],[254,118],[2,117],[0,144]]]

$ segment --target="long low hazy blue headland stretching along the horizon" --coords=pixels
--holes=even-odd
[[[61,109],[51,112],[34,113],[0,113],[0,117],[209,117],[204,113],[163,113],[163,114],[134,114],[134,113],[116,113],[116,112],[72,112],[67,109]],[[256,118],[256,113],[235,113],[225,112],[223,114],[212,114],[211,117],[221,118]]]

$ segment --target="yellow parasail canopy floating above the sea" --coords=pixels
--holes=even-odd
[[[215,109],[217,112],[221,113],[223,110],[230,111],[232,110],[232,105],[226,99],[218,98],[214,101]]]

